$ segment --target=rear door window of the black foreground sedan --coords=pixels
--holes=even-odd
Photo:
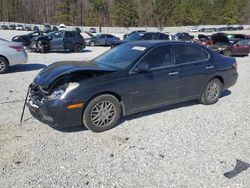
[[[176,45],[176,53],[179,64],[202,61],[209,57],[208,52],[193,45]]]

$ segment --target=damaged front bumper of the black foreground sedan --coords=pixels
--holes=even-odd
[[[38,121],[51,127],[70,127],[82,124],[83,108],[69,109],[72,104],[60,99],[46,99],[38,97],[31,91],[26,105],[31,115]]]

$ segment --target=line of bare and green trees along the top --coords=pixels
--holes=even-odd
[[[81,26],[250,23],[249,0],[0,0],[0,21]]]

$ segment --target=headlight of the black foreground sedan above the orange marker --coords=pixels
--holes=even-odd
[[[69,92],[79,87],[79,85],[79,83],[64,84],[56,88],[49,96],[49,99],[63,99]]]

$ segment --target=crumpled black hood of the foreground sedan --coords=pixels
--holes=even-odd
[[[88,61],[61,61],[44,68],[34,79],[34,83],[41,87],[48,88],[57,78],[73,72],[114,72],[113,68],[101,66]]]

